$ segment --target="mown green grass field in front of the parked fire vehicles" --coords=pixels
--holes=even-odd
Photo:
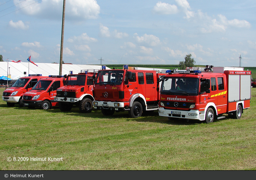
[[[132,119],[7,107],[2,99],[0,117],[0,170],[256,170],[256,88],[241,119],[212,124],[157,111]]]

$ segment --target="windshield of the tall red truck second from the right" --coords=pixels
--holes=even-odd
[[[121,70],[99,71],[95,84],[120,85],[122,83],[123,77],[124,71]]]

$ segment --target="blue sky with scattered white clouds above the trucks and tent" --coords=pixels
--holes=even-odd
[[[63,61],[256,66],[256,1],[66,0]],[[60,60],[63,0],[0,0],[0,54]]]

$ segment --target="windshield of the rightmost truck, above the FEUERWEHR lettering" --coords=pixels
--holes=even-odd
[[[197,95],[198,78],[164,77],[161,86],[162,94]]]

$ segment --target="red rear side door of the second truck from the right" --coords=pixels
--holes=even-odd
[[[157,101],[156,96],[156,73],[145,73],[146,79],[146,101]]]

